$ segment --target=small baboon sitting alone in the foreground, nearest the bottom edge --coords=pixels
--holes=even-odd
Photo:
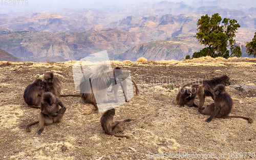
[[[123,119],[123,120],[114,122],[114,116],[115,116],[115,109],[105,111],[101,116],[100,124],[102,126],[102,129],[105,131],[105,134],[116,136],[116,137],[126,137],[127,139],[132,139],[131,136],[116,135],[117,132],[121,132],[124,130],[124,127],[121,127],[120,124],[123,122],[130,122],[132,121],[132,119]]]

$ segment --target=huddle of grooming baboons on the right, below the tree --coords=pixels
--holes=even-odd
[[[212,118],[243,118],[252,123],[252,119],[243,116],[229,116],[231,112],[233,100],[231,96],[226,92],[225,86],[229,86],[229,77],[222,75],[220,77],[214,77],[210,80],[203,80],[192,82],[184,85],[176,96],[176,103],[184,106],[188,104],[190,107],[195,106],[199,108],[201,114],[210,115],[205,122],[210,122]],[[189,88],[185,88],[190,86]],[[206,96],[211,96],[214,103],[207,105],[205,109],[203,107]],[[195,98],[199,99],[199,106],[195,104]]]

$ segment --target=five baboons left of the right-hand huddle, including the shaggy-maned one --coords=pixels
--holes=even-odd
[[[32,84],[29,84],[24,91],[24,100],[31,108],[40,108],[39,120],[29,123],[26,126],[26,131],[30,132],[31,125],[39,123],[38,134],[44,130],[45,124],[51,124],[54,122],[60,122],[65,114],[66,107],[63,105],[59,97],[75,96],[81,97],[86,103],[91,103],[95,106],[94,109],[89,110],[85,114],[91,114],[98,112],[97,102],[107,101],[106,88],[112,85],[112,91],[114,91],[114,98],[118,101],[118,85],[120,84],[125,101],[129,101],[127,97],[127,85],[125,79],[129,77],[124,76],[120,67],[115,67],[111,70],[113,74],[110,74],[108,65],[102,64],[91,71],[83,75],[79,90],[80,94],[60,94],[61,84],[57,76],[53,72],[46,72],[42,79],[36,79]],[[113,75],[113,76],[112,76]],[[134,79],[130,78],[136,88],[136,95],[139,93],[138,86]],[[95,99],[95,93],[93,90],[99,92],[99,99]],[[59,108],[59,105],[61,108]],[[101,126],[106,134],[114,135],[116,137],[126,137],[131,139],[131,136],[118,136],[116,132],[123,131],[121,127],[122,122],[130,122],[132,119],[125,119],[114,121],[115,109],[104,112],[100,119]]]

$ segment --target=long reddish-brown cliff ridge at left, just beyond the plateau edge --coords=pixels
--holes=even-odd
[[[2,32],[0,37],[0,48],[33,62],[78,60],[102,50],[115,58],[131,46],[151,40],[144,32],[113,29],[66,33]]]

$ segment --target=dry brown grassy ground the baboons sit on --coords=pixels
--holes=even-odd
[[[255,122],[233,118],[206,123],[209,116],[201,115],[197,108],[175,104],[177,88],[173,88],[223,74],[230,77],[231,85],[256,85],[256,59],[113,61],[113,67],[131,71],[140,89],[138,96],[116,108],[117,120],[133,119],[123,124],[123,134],[134,139],[105,135],[99,123],[102,113],[81,115],[93,105],[84,104],[79,97],[61,97],[67,107],[61,122],[46,126],[41,135],[37,134],[38,124],[26,132],[25,125],[37,120],[39,114],[39,109],[28,108],[24,102],[26,86],[46,71],[54,71],[61,80],[62,94],[76,93],[74,63],[0,62],[0,159],[148,159],[148,154],[164,153],[200,154],[201,158],[216,154],[213,159],[224,154],[229,159],[228,153],[231,156],[232,152],[255,153]],[[229,87],[227,92],[234,102],[230,115],[248,116],[255,121],[256,92],[244,93]],[[204,105],[212,102],[207,97]],[[243,156],[239,159],[253,158],[248,153]]]

